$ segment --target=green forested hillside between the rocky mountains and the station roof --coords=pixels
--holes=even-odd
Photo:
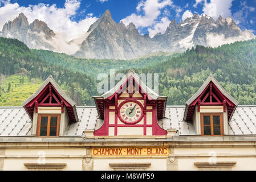
[[[256,104],[256,39],[217,48],[197,46],[175,55],[160,52],[135,60],[88,60],[0,38],[0,63],[0,106],[21,105],[50,74],[78,105],[94,105],[91,96],[99,95],[96,76],[109,73],[110,68],[116,73],[130,68],[139,74],[159,73],[159,94],[168,96],[168,105],[184,105],[210,73],[240,104]]]

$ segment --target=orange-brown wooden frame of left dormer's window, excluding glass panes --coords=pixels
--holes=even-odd
[[[41,118],[47,117],[47,134],[46,136],[40,136],[40,127],[41,127]],[[51,117],[57,117],[57,130],[55,136],[50,136],[50,125],[51,125]],[[60,114],[38,114],[38,122],[36,129],[36,137],[59,137],[59,129],[60,129]]]

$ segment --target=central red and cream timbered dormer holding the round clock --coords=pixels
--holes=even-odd
[[[94,97],[103,125],[94,135],[166,135],[162,119],[167,97],[149,89],[133,70],[102,96]]]

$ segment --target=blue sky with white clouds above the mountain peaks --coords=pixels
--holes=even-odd
[[[256,35],[256,0],[0,0],[0,30],[23,12],[29,23],[42,20],[69,41],[84,36],[107,9],[115,22],[133,22],[141,35],[151,37],[164,33],[172,19],[179,23],[193,14],[230,16],[241,30]]]

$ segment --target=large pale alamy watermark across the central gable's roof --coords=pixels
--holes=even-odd
[[[98,93],[106,93],[109,91],[110,94],[114,93],[122,93],[124,91],[128,91],[128,93],[133,93],[133,88],[129,88],[133,84],[128,84],[129,79],[133,77],[138,77],[136,79],[134,86],[135,90],[140,90],[141,93],[153,92],[159,94],[159,74],[158,73],[141,73],[140,75],[133,75],[133,73],[128,73],[125,75],[124,73],[115,74],[115,69],[109,69],[109,74],[100,73],[97,75],[97,80],[99,80],[99,84],[97,85]],[[120,85],[115,85],[116,81],[120,81],[123,79],[123,82],[120,82]],[[121,85],[123,84],[123,85]],[[153,88],[152,88],[153,86]],[[128,87],[128,89],[127,89]],[[110,90],[111,89],[111,90]]]

